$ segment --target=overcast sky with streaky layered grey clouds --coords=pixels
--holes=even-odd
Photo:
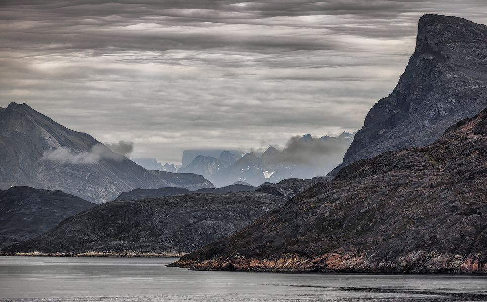
[[[487,2],[2,0],[0,107],[176,164],[355,131],[425,13],[485,24]]]

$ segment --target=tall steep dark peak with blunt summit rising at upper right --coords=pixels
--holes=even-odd
[[[487,26],[421,17],[416,50],[393,92],[369,111],[344,166],[388,150],[432,143],[458,120],[487,107]]]

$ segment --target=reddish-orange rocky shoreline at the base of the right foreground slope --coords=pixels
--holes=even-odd
[[[415,262],[419,254],[428,255],[430,261]],[[421,256],[424,256],[421,255]],[[487,263],[464,255],[444,255],[434,251],[411,253],[402,257],[399,265],[394,261],[371,262],[361,255],[347,253],[326,253],[316,257],[284,253],[280,258],[257,259],[210,259],[203,262],[181,259],[168,266],[191,270],[252,271],[283,273],[487,273]]]

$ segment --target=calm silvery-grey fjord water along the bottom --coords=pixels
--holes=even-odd
[[[0,301],[487,301],[480,275],[189,271],[177,258],[0,257]]]

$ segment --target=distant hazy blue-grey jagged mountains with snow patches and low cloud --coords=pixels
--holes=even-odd
[[[146,169],[194,173],[217,187],[238,181],[259,186],[287,178],[311,179],[324,176],[339,165],[355,133],[314,138],[310,134],[291,137],[284,147],[270,146],[264,152],[239,154],[235,150],[185,150],[181,167],[155,159],[132,159]],[[184,165],[186,164],[186,165]]]

